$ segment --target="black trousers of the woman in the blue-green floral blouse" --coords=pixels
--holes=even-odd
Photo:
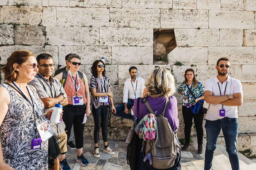
[[[182,115],[185,124],[185,143],[189,143],[190,141],[190,132],[192,127],[192,120],[194,118],[194,123],[196,127],[196,135],[197,135],[197,143],[199,145],[203,144],[203,119],[204,114],[199,110],[197,114],[192,114],[191,109],[186,106],[182,106]]]

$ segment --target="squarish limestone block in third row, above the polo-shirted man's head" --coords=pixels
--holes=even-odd
[[[221,29],[220,46],[242,46],[243,30],[238,29]]]

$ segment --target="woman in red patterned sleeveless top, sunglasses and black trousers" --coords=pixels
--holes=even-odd
[[[90,110],[90,94],[87,77],[84,73],[79,72],[81,57],[77,54],[70,54],[68,57],[69,70],[66,71],[67,78],[64,90],[68,96],[68,105],[63,107],[63,121],[66,125],[68,139],[72,125],[74,127],[75,142],[77,148],[77,162],[81,165],[88,165],[88,161],[83,156],[83,132],[84,132],[84,116],[88,117]],[[62,83],[62,74],[56,75],[54,78]],[[84,80],[80,75],[83,75]],[[64,80],[63,80],[64,81]],[[62,83],[63,84],[63,83]],[[86,103],[86,105],[85,105]]]

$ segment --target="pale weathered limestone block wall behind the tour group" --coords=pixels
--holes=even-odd
[[[193,68],[197,79],[205,82],[216,75],[218,58],[231,59],[231,76],[242,82],[244,92],[238,148],[256,153],[255,11],[255,0],[1,0],[0,64],[13,51],[28,49],[35,55],[53,55],[57,69],[72,52],[81,55],[81,70],[90,78],[91,64],[104,56],[118,105],[129,67],[135,65],[138,76],[146,78],[157,63],[153,60],[154,31],[173,30],[176,47],[168,54],[168,64],[160,66],[171,68],[176,87],[185,69]],[[178,135],[184,138],[181,95],[175,93],[175,97]],[[110,139],[124,140],[131,125],[111,115]],[[92,138],[92,116],[86,126],[85,137]],[[192,134],[196,134],[194,128]]]

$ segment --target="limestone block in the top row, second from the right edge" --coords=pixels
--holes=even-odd
[[[221,10],[244,10],[243,0],[221,0]]]

